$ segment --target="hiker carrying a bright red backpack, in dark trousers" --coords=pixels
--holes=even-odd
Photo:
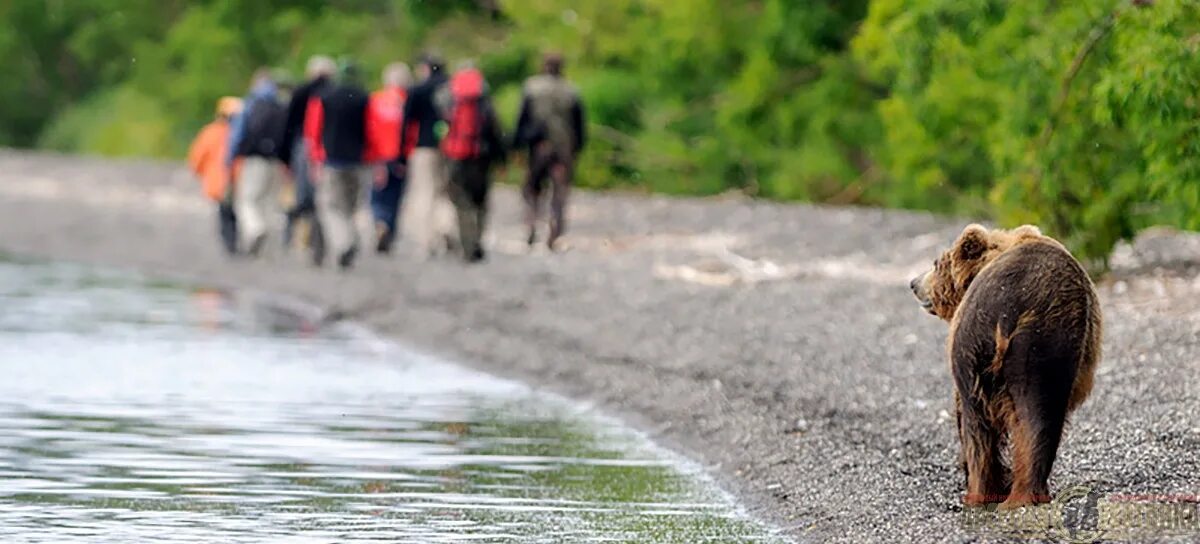
[[[458,240],[468,263],[484,259],[480,244],[487,221],[492,165],[504,161],[500,124],[487,94],[484,73],[473,66],[455,72],[438,92],[446,122],[442,154],[446,159],[446,191],[458,216]]]

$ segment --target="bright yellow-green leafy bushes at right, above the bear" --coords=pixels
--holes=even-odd
[[[892,91],[884,202],[1039,223],[1099,262],[1196,228],[1198,32],[1188,0],[872,2],[854,54]]]

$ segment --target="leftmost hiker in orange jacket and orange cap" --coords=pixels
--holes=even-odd
[[[233,184],[226,166],[229,120],[241,113],[241,98],[217,101],[217,118],[204,126],[187,151],[187,165],[199,178],[204,195],[217,203],[217,226],[227,253],[238,255],[238,217],[233,211]],[[234,166],[236,168],[236,165]]]

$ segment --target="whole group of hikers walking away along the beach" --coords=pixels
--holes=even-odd
[[[270,72],[256,72],[245,98],[222,97],[216,120],[197,136],[188,163],[216,202],[229,255],[258,256],[290,180],[294,204],[284,210],[282,243],[307,222],[316,265],[326,256],[346,269],[360,251],[355,215],[370,198],[374,251],[389,253],[398,235],[419,258],[460,251],[485,258],[492,171],[509,151],[527,150],[522,189],[528,244],[538,243],[544,195],[550,196],[553,251],[565,227],[575,160],[586,142],[583,106],[563,77],[563,58],[546,54],[530,77],[516,128],[505,134],[484,73],[463,62],[446,73],[442,59],[421,56],[414,73],[396,62],[383,88],[368,92],[353,61],[313,56],[306,80],[283,100]],[[370,197],[367,189],[370,187]]]

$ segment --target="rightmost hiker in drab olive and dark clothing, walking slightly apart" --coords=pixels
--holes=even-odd
[[[566,229],[566,197],[575,175],[575,160],[587,139],[583,102],[575,85],[563,77],[563,56],[553,53],[542,60],[542,73],[526,80],[523,94],[512,147],[529,149],[529,175],[521,191],[526,201],[528,244],[532,246],[538,240],[539,209],[548,178],[546,246],[553,251]]]

